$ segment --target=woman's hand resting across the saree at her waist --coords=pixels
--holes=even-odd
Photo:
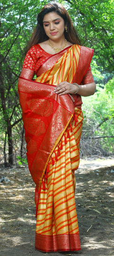
[[[78,90],[79,90],[79,88],[75,84],[70,84],[70,83],[64,81],[57,85],[54,92],[56,92],[59,95],[65,95],[67,93],[76,94],[78,92]]]

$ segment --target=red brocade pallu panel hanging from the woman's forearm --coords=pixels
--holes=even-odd
[[[66,95],[59,98],[54,93],[54,88],[26,79],[21,79],[21,84],[19,83],[28,167],[37,189],[40,187],[50,154],[74,115],[70,97]]]

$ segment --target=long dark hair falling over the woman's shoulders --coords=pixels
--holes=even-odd
[[[42,10],[38,13],[38,16],[37,16],[38,24],[32,34],[31,39],[28,42],[26,52],[28,51],[28,49],[30,49],[31,46],[44,42],[48,39],[48,36],[46,35],[43,27],[43,19],[47,13],[52,11],[55,11],[60,17],[62,17],[65,23],[65,26],[67,26],[67,32],[66,30],[64,31],[66,40],[73,44],[80,44],[80,39],[76,33],[76,30],[73,26],[73,23],[66,9],[62,6],[62,4],[51,2],[51,3],[47,3],[42,8]]]

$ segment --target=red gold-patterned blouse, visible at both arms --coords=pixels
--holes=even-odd
[[[52,54],[47,53],[40,47],[39,44],[33,45],[25,56],[21,76],[26,79],[32,79],[34,74],[37,74],[38,68],[50,55]],[[82,84],[88,84],[92,82],[94,82],[94,79],[91,72],[91,67],[89,66],[89,69],[82,80]]]

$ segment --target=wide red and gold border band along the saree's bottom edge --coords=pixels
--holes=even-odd
[[[79,234],[47,236],[36,233],[35,248],[42,252],[79,251]]]

